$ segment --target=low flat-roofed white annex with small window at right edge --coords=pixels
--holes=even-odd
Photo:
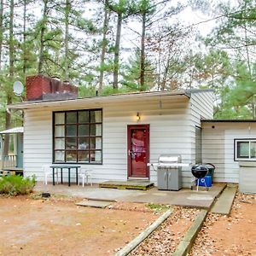
[[[256,193],[256,120],[202,120],[202,160],[216,166],[215,182]]]

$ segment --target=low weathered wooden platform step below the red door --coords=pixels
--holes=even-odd
[[[100,188],[107,189],[138,189],[138,190],[147,190],[154,187],[154,183],[150,183],[148,181],[136,180],[136,181],[106,181],[103,183],[99,183]]]

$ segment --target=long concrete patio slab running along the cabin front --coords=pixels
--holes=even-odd
[[[73,184],[68,187],[67,184],[44,185],[37,183],[35,191],[50,192],[59,195],[69,195],[100,201],[129,201],[141,203],[154,203],[176,205],[182,207],[201,207],[209,209],[218,195],[225,188],[225,183],[214,183],[209,191],[201,188],[199,191],[191,189],[180,189],[179,191],[158,190],[157,188],[147,191],[130,189],[102,189],[94,186],[77,186]]]

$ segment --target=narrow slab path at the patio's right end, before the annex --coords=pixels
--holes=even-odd
[[[213,204],[211,212],[229,215],[236,195],[236,190],[237,185],[228,185]]]

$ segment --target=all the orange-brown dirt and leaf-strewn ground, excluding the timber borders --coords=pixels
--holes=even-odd
[[[163,213],[144,204],[98,209],[75,201],[81,199],[0,196],[0,255],[113,255]],[[174,207],[131,255],[171,255],[198,212]],[[189,255],[256,255],[255,212],[256,195],[238,193],[230,217],[208,214]]]

